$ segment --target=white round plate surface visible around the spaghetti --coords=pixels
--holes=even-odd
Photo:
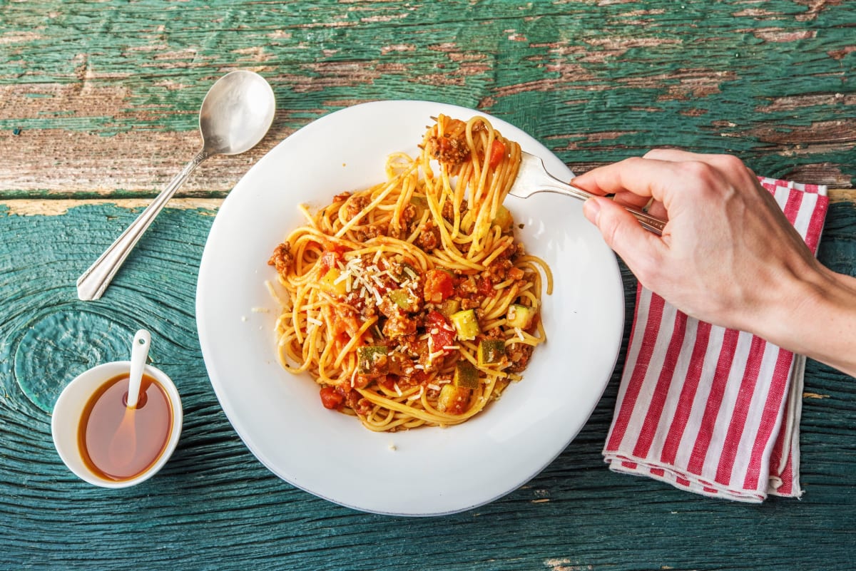
[[[548,342],[524,379],[471,421],[446,429],[372,433],[324,409],[318,386],[276,361],[278,308],[265,280],[276,244],[341,191],[384,179],[386,156],[417,153],[431,115],[479,112],[443,103],[382,101],[326,115],[263,157],[223,202],[199,268],[196,315],[211,385],[235,431],[267,468],[306,492],[368,512],[442,515],[512,492],[544,469],[588,420],[621,346],[624,292],[615,255],[580,203],[546,193],[506,205],[526,249],[550,264]],[[485,115],[486,114],[480,114]],[[488,117],[503,135],[572,174],[525,132]],[[265,311],[266,309],[266,311]]]

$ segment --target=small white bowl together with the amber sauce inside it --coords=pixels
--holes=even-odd
[[[182,425],[181,398],[172,380],[146,365],[140,399],[128,410],[130,362],[109,362],[80,374],[56,400],[51,419],[56,451],[82,480],[118,488],[148,480],[169,460]],[[132,445],[114,439],[126,415]]]

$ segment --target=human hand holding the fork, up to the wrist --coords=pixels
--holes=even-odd
[[[652,150],[595,168],[574,185],[584,212],[639,281],[702,321],[770,333],[782,310],[805,303],[823,268],[757,177],[734,156]],[[645,231],[619,204],[668,220]],[[768,335],[775,338],[775,335]]]

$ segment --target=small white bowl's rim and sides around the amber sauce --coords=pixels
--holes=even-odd
[[[83,415],[83,409],[86,407],[86,403],[89,402],[89,398],[98,390],[98,387],[103,386],[105,382],[120,374],[129,373],[130,370],[130,361],[106,362],[88,369],[68,383],[68,386],[62,390],[54,405],[51,418],[51,433],[53,434],[54,445],[56,446],[56,451],[59,452],[59,457],[62,458],[62,462],[65,462],[68,469],[80,477],[81,480],[85,480],[95,486],[125,488],[148,480],[154,474],[157,474],[158,470],[163,468],[163,465],[169,460],[169,456],[172,456],[175,445],[178,444],[178,437],[181,435],[183,413],[178,390],[175,388],[172,380],[163,371],[151,365],[146,365],[144,373],[154,377],[163,386],[163,390],[166,392],[169,403],[172,406],[172,432],[169,433],[166,448],[158,457],[157,462],[152,464],[142,474],[129,480],[107,480],[98,474],[94,474],[86,466],[83,456],[80,454],[80,444],[78,443],[78,431],[80,430],[80,418]]]

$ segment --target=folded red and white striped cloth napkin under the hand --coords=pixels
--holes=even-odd
[[[826,187],[759,180],[816,253]],[[708,496],[800,497],[804,368],[805,357],[693,319],[639,285],[603,457]]]

